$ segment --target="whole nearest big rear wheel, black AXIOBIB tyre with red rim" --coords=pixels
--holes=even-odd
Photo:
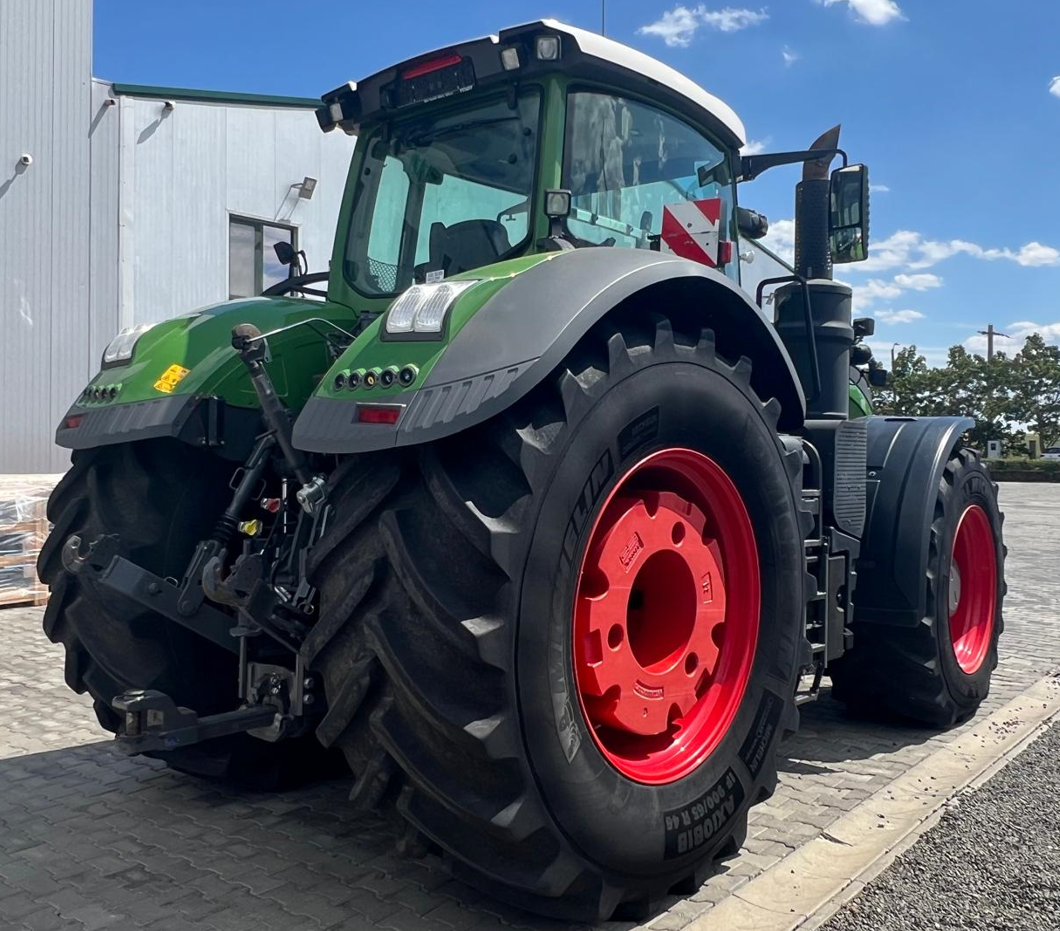
[[[805,609],[801,450],[749,374],[630,317],[492,421],[339,467],[305,658],[355,803],[564,918],[691,892],[740,847]]]

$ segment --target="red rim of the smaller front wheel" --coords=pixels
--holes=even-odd
[[[997,604],[997,550],[990,519],[978,505],[969,505],[957,523],[947,601],[953,653],[971,675],[990,650]]]

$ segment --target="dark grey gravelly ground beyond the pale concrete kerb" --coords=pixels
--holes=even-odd
[[[1060,724],[939,823],[823,931],[1060,929]]]

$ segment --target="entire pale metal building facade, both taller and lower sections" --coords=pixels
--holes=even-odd
[[[0,473],[67,467],[55,425],[121,327],[228,297],[230,212],[298,227],[325,269],[353,151],[311,110],[108,103],[91,17],[0,0]]]

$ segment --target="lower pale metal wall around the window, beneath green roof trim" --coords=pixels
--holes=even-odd
[[[328,268],[353,140],[312,110],[121,98],[120,308],[149,323],[228,298],[228,217],[298,228]],[[295,185],[318,179],[312,199]]]

